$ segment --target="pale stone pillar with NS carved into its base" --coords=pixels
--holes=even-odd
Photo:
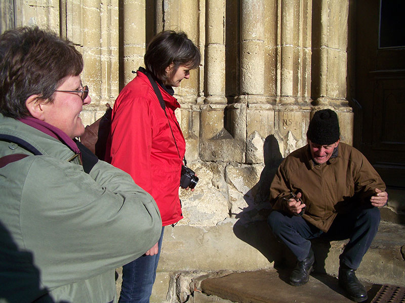
[[[279,0],[274,135],[281,155],[306,144],[311,102],[312,1]]]

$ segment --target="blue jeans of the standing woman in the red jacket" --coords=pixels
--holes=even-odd
[[[118,303],[149,303],[164,231],[165,227],[162,227],[158,242],[159,252],[156,255],[143,255],[123,266],[123,285]]]

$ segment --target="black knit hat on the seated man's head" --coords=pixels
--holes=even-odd
[[[307,138],[312,143],[329,145],[339,140],[338,115],[332,110],[317,111],[309,122]]]

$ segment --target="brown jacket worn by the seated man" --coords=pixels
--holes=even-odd
[[[303,218],[322,231],[328,231],[338,213],[354,208],[373,207],[374,189],[385,184],[360,151],[339,143],[332,157],[323,164],[312,161],[309,146],[291,153],[279,166],[270,185],[273,210],[289,212],[284,197],[290,191],[302,193],[306,205]]]

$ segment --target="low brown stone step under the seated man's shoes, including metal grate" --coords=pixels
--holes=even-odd
[[[315,273],[308,283],[295,287],[287,283],[288,272],[260,270],[233,273],[201,282],[201,293],[194,292],[193,303],[330,303],[352,302],[338,285],[338,279]],[[366,302],[404,302],[405,288],[362,281],[368,292]],[[391,290],[391,293],[388,291]],[[391,300],[390,300],[391,299]]]

